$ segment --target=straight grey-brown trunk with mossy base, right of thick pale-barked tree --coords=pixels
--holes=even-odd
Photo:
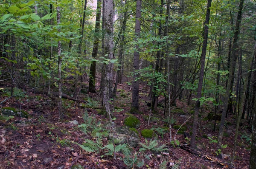
[[[136,3],[136,21],[135,21],[135,42],[137,42],[137,38],[140,36],[140,17],[141,17],[141,0],[137,0]],[[140,53],[139,53],[139,45],[135,45],[136,51],[134,51],[134,81],[132,82],[132,100],[131,100],[131,113],[137,113],[139,111],[139,81],[137,78],[139,77],[139,66],[140,66]]]

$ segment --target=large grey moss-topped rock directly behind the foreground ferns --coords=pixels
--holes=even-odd
[[[132,147],[137,147],[140,141],[139,135],[133,131],[129,130],[128,127],[115,127],[113,128],[113,133],[108,135],[109,139],[114,139],[116,144],[129,144]]]

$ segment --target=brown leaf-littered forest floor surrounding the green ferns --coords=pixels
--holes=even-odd
[[[66,84],[67,85],[67,84]],[[71,87],[71,86],[70,86]],[[67,86],[68,88],[68,86]],[[2,88],[3,89],[3,88]],[[5,96],[4,90],[1,91],[0,101],[8,98]],[[157,113],[152,116],[159,120],[151,122],[148,126],[148,121],[143,119],[143,115],[149,114],[149,108],[145,101],[149,102],[148,93],[140,93],[140,113],[135,115],[140,120],[140,127],[137,129],[140,133],[143,129],[151,129],[156,127],[164,127],[166,124],[163,119],[166,119],[163,113],[163,108],[157,108]],[[88,107],[84,98],[90,98],[96,105]],[[56,98],[55,98],[56,99]],[[75,169],[83,166],[85,169],[125,169],[127,166],[118,157],[116,160],[113,156],[104,155],[103,151],[86,152],[80,146],[74,143],[81,144],[84,138],[91,138],[90,134],[85,134],[80,130],[78,125],[70,121],[76,120],[79,124],[84,122],[83,115],[87,111],[90,116],[96,121],[104,124],[108,121],[104,115],[99,115],[101,98],[96,94],[81,94],[79,95],[80,103],[75,101],[64,100],[64,119],[59,119],[57,101],[54,96],[42,96],[35,94],[32,91],[20,97],[12,97],[1,104],[3,107],[14,107],[29,113],[29,118],[14,118],[0,120],[0,168],[2,169]],[[159,99],[163,101],[163,98]],[[97,102],[98,101],[98,102]],[[173,113],[176,123],[186,127],[186,132],[192,131],[191,112],[193,107],[187,106],[186,100],[177,100],[177,106]],[[192,102],[193,103],[193,102]],[[98,105],[99,104],[99,105]],[[114,106],[119,111],[114,111],[115,125],[123,126],[124,119],[128,116],[131,104],[131,91],[128,87],[119,86],[117,99]],[[85,106],[84,106],[85,105]],[[211,104],[205,104],[201,113],[201,122],[199,133],[197,135],[198,149],[202,153],[201,156],[191,154],[180,148],[180,145],[186,144],[188,139],[185,139],[183,133],[177,133],[176,139],[180,145],[169,144],[169,132],[157,136],[159,144],[166,144],[169,153],[165,157],[157,158],[153,156],[150,160],[145,160],[143,169],[158,169],[159,164],[165,160],[178,163],[180,169],[221,169],[228,168],[230,157],[233,152],[235,120],[233,115],[228,115],[223,144],[227,144],[227,148],[221,152],[227,155],[223,159],[218,159],[216,155],[217,144],[212,143],[208,136],[218,136],[217,130],[213,131],[214,120],[205,120],[208,113],[213,112],[214,107]],[[167,111],[168,112],[168,111]],[[168,114],[168,113],[166,113]],[[190,117],[190,118],[189,118]],[[172,137],[174,137],[177,129],[172,129]],[[155,132],[157,134],[157,132]],[[250,145],[246,139],[242,139],[242,135],[250,134],[250,124],[243,121],[243,126],[239,130],[238,147],[233,166],[236,169],[247,169],[249,167]],[[140,134],[139,134],[140,135]],[[215,137],[212,137],[216,139]],[[140,135],[140,141],[145,143],[145,138]],[[103,144],[107,144],[107,138],[103,138]],[[138,151],[139,147],[134,148]],[[117,153],[117,156],[119,154]],[[120,157],[122,155],[120,154]],[[208,158],[215,159],[211,161]],[[164,159],[163,159],[164,158]],[[216,162],[217,161],[217,162]],[[224,162],[221,166],[219,161]],[[171,168],[171,167],[170,167]],[[174,168],[174,167],[172,167]]]

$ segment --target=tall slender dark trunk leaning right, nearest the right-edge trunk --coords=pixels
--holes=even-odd
[[[222,110],[222,115],[221,115],[221,124],[220,124],[220,130],[219,130],[219,135],[218,135],[218,148],[221,148],[221,144],[222,144],[222,138],[223,138],[223,133],[224,133],[224,124],[225,124],[226,113],[227,113],[227,108],[228,108],[228,101],[230,98],[230,88],[232,87],[231,84],[232,84],[232,80],[234,79],[234,71],[235,71],[235,67],[236,67],[236,59],[237,59],[237,52],[238,52],[239,26],[240,26],[241,18],[242,18],[243,3],[244,3],[244,0],[240,0],[239,11],[237,14],[237,19],[236,19],[236,28],[235,28],[235,32],[234,32],[232,54],[231,54],[231,58],[230,58],[229,76],[228,76],[228,81],[227,81],[224,105],[223,105],[223,110]]]

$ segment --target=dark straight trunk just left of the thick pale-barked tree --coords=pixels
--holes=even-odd
[[[99,49],[99,28],[100,28],[100,16],[101,16],[102,0],[97,0],[97,11],[96,11],[96,23],[94,30],[94,41],[93,41],[93,53],[92,57],[95,59],[98,55]],[[96,93],[96,61],[93,61],[90,65],[90,79],[89,79],[89,92]]]

